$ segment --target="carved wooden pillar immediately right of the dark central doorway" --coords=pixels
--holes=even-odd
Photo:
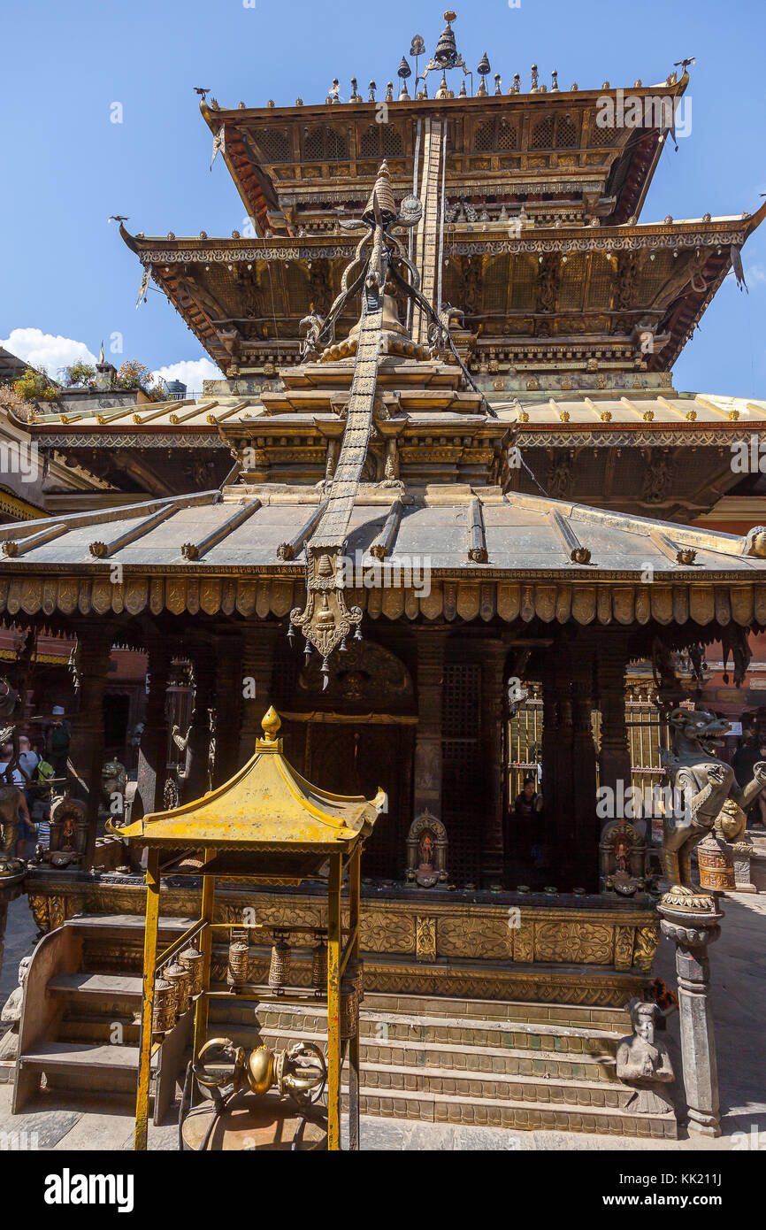
[[[418,726],[414,740],[414,814],[441,819],[441,694],[446,629],[418,629]],[[448,834],[449,836],[449,834]]]

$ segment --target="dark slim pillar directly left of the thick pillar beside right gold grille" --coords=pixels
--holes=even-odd
[[[572,645],[572,850],[571,892],[575,886],[594,889],[599,875],[599,822],[596,818],[596,750],[593,742],[593,667],[590,638]]]

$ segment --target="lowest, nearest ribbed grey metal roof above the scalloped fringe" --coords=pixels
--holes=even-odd
[[[305,542],[325,498],[316,487],[232,486],[223,496],[209,491],[2,525],[0,587],[18,571],[108,581],[116,565],[136,576],[302,574]],[[477,579],[569,573],[573,566],[589,581],[647,568],[674,579],[714,572],[751,578],[764,563],[746,554],[750,545],[733,534],[467,483],[406,491],[363,483],[347,535],[350,563],[382,569],[384,585],[395,588],[385,578],[396,578],[408,560],[429,573]],[[693,556],[686,565],[684,552]]]

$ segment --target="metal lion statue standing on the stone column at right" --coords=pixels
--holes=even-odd
[[[766,786],[766,761],[754,765],[752,781],[740,790],[732,766],[714,752],[729,729],[725,718],[708,710],[674,708],[668,724],[673,748],[663,750],[661,763],[674,791],[674,806],[663,817],[663,870],[671,889],[685,894],[695,892],[693,847],[717,827],[722,833],[739,827],[739,813],[746,812]]]

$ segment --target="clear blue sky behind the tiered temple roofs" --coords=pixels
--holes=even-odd
[[[150,292],[134,310],[139,264],[107,225],[109,214],[122,213],[132,231],[148,235],[242,228],[223,160],[208,171],[210,134],[193,86],[210,87],[221,106],[321,100],[333,76],[344,96],[352,75],[361,90],[371,77],[382,87],[414,33],[433,52],[443,11],[424,0],[6,6],[0,341],[48,359],[52,374],[76,355],[74,343],[96,354],[114,332],[123,335],[122,357],[155,370],[202,359],[162,295]],[[630,87],[636,77],[663,81],[674,60],[696,55],[691,135],[677,154],[665,150],[642,216],[759,207],[766,192],[762,0],[520,0],[519,7],[472,0],[457,5],[455,33],[470,66],[488,53],[505,90],[515,71],[529,81],[532,62],[541,81],[558,69],[563,89],[604,80]],[[109,119],[116,102],[122,124]],[[732,278],[724,283],[676,364],[677,389],[766,396],[766,224],[743,260],[750,294]],[[187,370],[199,387],[193,376],[202,369]]]

